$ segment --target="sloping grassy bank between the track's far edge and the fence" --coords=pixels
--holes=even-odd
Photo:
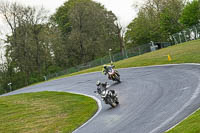
[[[172,60],[168,61],[168,54]],[[168,48],[164,48],[155,52],[146,53],[140,56],[128,58],[122,61],[115,62],[117,68],[139,67],[162,64],[176,63],[200,63],[200,40],[190,41]],[[69,77],[73,75],[101,71],[102,66],[90,68],[80,72],[60,76],[57,78]],[[56,79],[57,79],[56,78]]]

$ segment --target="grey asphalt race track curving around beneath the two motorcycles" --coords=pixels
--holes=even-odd
[[[120,69],[119,106],[102,107],[75,133],[162,133],[200,107],[200,65],[181,64]],[[38,91],[75,92],[96,96],[96,81],[107,81],[100,72],[57,79],[5,95]],[[98,96],[96,96],[99,98]]]

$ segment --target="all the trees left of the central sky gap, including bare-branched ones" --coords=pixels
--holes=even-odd
[[[1,63],[1,92],[44,80],[44,76],[120,51],[117,17],[91,0],[68,0],[53,15],[44,8],[1,2],[11,33]],[[3,59],[2,59],[3,60]]]

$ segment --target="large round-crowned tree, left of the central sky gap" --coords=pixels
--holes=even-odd
[[[61,47],[67,51],[66,60],[70,65],[104,56],[109,48],[118,49],[117,18],[99,3],[69,0],[52,18],[65,33]]]

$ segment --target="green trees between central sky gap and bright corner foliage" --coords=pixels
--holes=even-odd
[[[183,6],[182,0],[148,0],[128,25],[126,44],[132,47],[167,41],[169,35],[182,28],[178,20]]]

